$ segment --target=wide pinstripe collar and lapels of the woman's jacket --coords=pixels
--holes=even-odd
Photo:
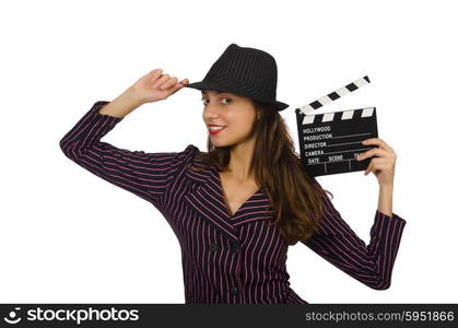
[[[245,201],[234,215],[230,215],[224,202],[223,188],[218,169],[212,166],[195,172],[190,169],[190,165],[203,166],[198,160],[188,164],[185,171],[191,181],[191,188],[184,196],[184,199],[203,220],[207,220],[228,238],[234,242],[239,241],[236,230],[238,226],[254,223],[255,221],[273,219],[273,210],[269,198],[261,189]]]

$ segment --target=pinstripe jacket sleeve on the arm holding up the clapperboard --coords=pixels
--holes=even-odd
[[[322,196],[325,215],[317,232],[302,243],[367,286],[388,289],[406,220],[395,213],[388,216],[376,210],[371,241],[366,246],[324,191]]]

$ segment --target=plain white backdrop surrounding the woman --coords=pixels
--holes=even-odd
[[[289,250],[291,286],[309,303],[458,301],[454,1],[14,1],[0,4],[0,302],[185,302],[162,214],[71,162],[59,141],[148,71],[200,81],[231,43],[275,57],[296,148],[294,108],[367,74],[369,85],[319,113],[376,106],[379,138],[398,154],[394,212],[408,223],[391,286],[372,290],[303,244]],[[200,92],[184,89],[103,140],[205,151],[201,110]],[[368,242],[375,176],[318,180]]]

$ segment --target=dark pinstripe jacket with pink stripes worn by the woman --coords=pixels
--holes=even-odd
[[[289,245],[270,223],[273,210],[262,189],[230,215],[218,171],[189,168],[200,164],[197,147],[145,153],[102,142],[124,119],[99,114],[107,103],[94,103],[60,148],[80,166],[161,211],[179,241],[186,303],[307,304],[290,288]],[[329,198],[324,200],[318,231],[301,243],[367,286],[387,289],[406,221],[376,210],[366,246]]]

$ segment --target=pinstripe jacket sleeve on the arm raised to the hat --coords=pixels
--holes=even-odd
[[[145,153],[119,149],[101,141],[122,117],[99,114],[109,102],[96,102],[60,140],[62,152],[71,161],[98,177],[128,190],[161,208],[162,196],[179,165],[198,148],[189,144],[181,152]]]

